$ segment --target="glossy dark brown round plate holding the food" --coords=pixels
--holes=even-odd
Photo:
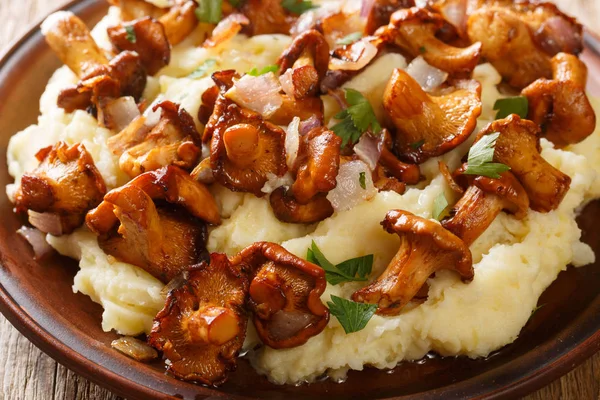
[[[75,1],[66,6],[88,24],[105,12],[105,0]],[[591,40],[591,39],[590,39]],[[590,89],[600,94],[600,58],[589,49]],[[35,123],[38,99],[58,60],[38,27],[0,61],[0,188],[11,182],[6,147],[12,134]],[[0,311],[36,346],[61,364],[114,392],[134,399],[164,398],[515,398],[565,374],[600,349],[600,262],[569,268],[543,294],[545,306],[519,339],[481,360],[431,358],[402,363],[391,371],[367,368],[351,372],[344,384],[276,386],[240,362],[220,389],[177,381],[162,363],[144,365],[110,348],[116,335],[102,332],[102,309],[73,294],[75,262],[55,256],[37,263],[29,245],[15,234],[22,225],[0,193]],[[600,203],[579,218],[584,239],[600,254]],[[540,249],[543,251],[543,249]],[[368,346],[365,343],[365,346]]]

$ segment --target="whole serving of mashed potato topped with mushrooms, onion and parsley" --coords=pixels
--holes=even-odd
[[[43,24],[65,66],[7,193],[116,351],[207,385],[486,357],[594,261],[600,103],[555,6],[110,3]]]

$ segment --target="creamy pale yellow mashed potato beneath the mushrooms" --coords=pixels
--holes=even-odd
[[[160,2],[156,2],[160,3]],[[101,46],[108,48],[106,26],[118,20],[119,12],[109,15],[94,31]],[[273,64],[290,43],[282,35],[247,38],[238,35],[216,49],[199,48],[205,32],[196,34],[173,50],[171,65],[149,80],[145,93],[148,101],[157,95],[179,102],[196,118],[200,96],[211,86],[208,77],[188,79],[208,59],[216,60],[212,70],[236,68],[240,72]],[[383,89],[394,68],[405,68],[406,60],[397,54],[381,57],[345,87],[360,90],[381,113]],[[496,84],[500,76],[489,65],[481,65],[475,77],[483,85],[482,127],[493,120],[493,104],[500,97]],[[8,148],[10,174],[18,182],[21,175],[37,165],[34,154],[40,148],[64,140],[81,142],[93,156],[109,188],[124,184],[127,177],[119,170],[118,159],[106,146],[110,132],[100,128],[94,118],[77,111],[66,114],[56,106],[61,88],[75,83],[67,69],[59,69],[41,99],[38,124],[16,134]],[[337,111],[335,102],[325,97],[326,114]],[[600,104],[595,101],[600,111]],[[198,123],[198,121],[196,121]],[[203,127],[198,123],[198,128]],[[472,135],[472,139],[475,134]],[[471,140],[472,140],[471,139]],[[451,168],[468,151],[465,143],[443,159]],[[542,155],[572,179],[571,190],[560,208],[548,214],[530,211],[521,221],[501,214],[471,247],[475,279],[463,284],[448,271],[429,280],[429,298],[420,305],[406,307],[397,317],[374,316],[360,332],[345,334],[335,317],[325,330],[305,345],[274,350],[261,347],[251,351],[254,367],[276,383],[310,381],[324,373],[341,377],[348,369],[361,370],[365,365],[392,368],[402,360],[415,360],[433,350],[442,355],[483,357],[513,342],[527,323],[541,293],[567,265],[585,265],[594,254],[580,241],[581,231],[575,217],[587,201],[600,197],[600,131],[585,142],[566,150],[556,150],[542,140]],[[261,240],[281,243],[292,253],[305,257],[311,240],[334,263],[367,254],[375,255],[372,279],[375,279],[398,250],[399,239],[380,226],[391,209],[404,209],[430,218],[435,198],[445,192],[455,195],[440,176],[437,162],[422,165],[426,182],[409,189],[404,195],[394,192],[376,194],[351,210],[334,214],[312,226],[290,225],[277,220],[268,197],[233,193],[214,185],[211,191],[224,217],[223,224],[213,228],[210,251],[237,253],[245,246]],[[7,188],[9,195],[14,185]],[[48,236],[49,243],[61,254],[80,260],[73,290],[82,292],[104,307],[102,327],[122,334],[149,332],[152,318],[163,305],[162,283],[145,271],[103,253],[95,236],[85,228],[63,237]],[[331,295],[349,298],[361,283],[329,285],[323,302]],[[255,335],[248,335],[246,347],[253,349]]]

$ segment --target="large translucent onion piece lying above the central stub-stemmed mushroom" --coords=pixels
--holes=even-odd
[[[225,97],[269,118],[283,104],[280,91],[279,80],[269,72],[260,76],[244,75],[225,93]]]

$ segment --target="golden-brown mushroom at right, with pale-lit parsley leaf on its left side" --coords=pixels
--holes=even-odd
[[[494,121],[485,127],[484,135],[499,132],[494,151],[494,162],[508,165],[521,182],[531,203],[539,212],[558,208],[571,186],[571,178],[550,165],[540,154],[540,128],[534,122],[518,115]]]

